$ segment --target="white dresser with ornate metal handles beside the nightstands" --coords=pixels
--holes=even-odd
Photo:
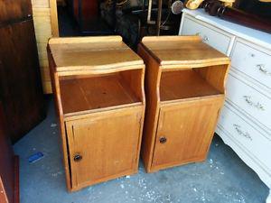
[[[266,183],[266,202],[271,203],[271,34],[220,20],[202,9],[183,11],[179,34],[201,35],[230,57],[226,102],[216,133]]]

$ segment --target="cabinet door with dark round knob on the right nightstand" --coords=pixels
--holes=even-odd
[[[154,147],[155,170],[203,161],[209,150],[223,97],[162,106]]]

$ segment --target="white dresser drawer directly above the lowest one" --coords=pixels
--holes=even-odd
[[[243,81],[229,74],[227,81],[227,100],[243,109],[248,115],[257,119],[257,122],[271,129],[271,100],[259,93]]]

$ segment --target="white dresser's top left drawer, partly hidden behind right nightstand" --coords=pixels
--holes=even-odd
[[[182,22],[182,35],[199,34],[203,42],[206,42],[216,50],[227,54],[231,42],[231,36],[226,32],[218,32],[215,29],[205,26],[196,19],[191,19],[185,15]]]

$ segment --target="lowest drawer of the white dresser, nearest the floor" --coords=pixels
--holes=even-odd
[[[271,170],[271,141],[260,134],[254,126],[249,125],[246,119],[235,114],[228,106],[224,106],[219,125],[249,152],[248,155],[255,156],[257,161]]]

